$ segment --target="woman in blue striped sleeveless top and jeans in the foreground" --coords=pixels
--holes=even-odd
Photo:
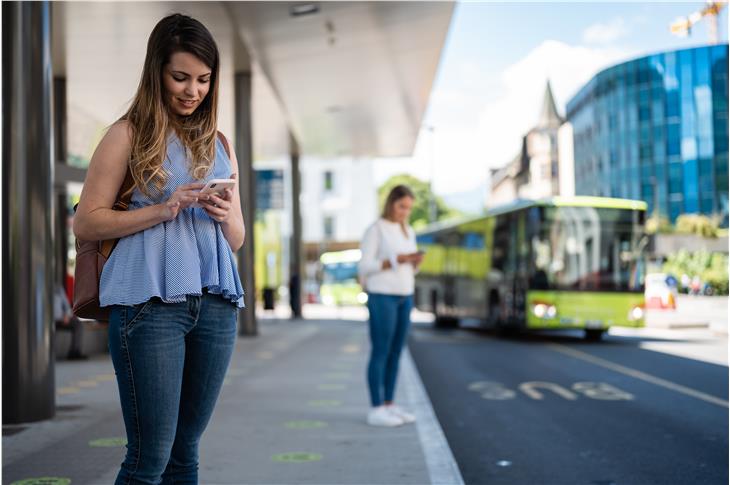
[[[171,15],[152,31],[129,111],[94,153],[74,220],[85,240],[120,238],[104,266],[109,348],[127,431],[117,484],[197,483],[198,443],[236,338],[243,288],[236,178],[217,132],[218,48],[198,21]],[[127,211],[112,210],[129,170]]]

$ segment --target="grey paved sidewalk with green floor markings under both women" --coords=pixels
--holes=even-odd
[[[463,483],[407,352],[397,399],[418,423],[372,428],[364,323],[261,320],[260,333],[237,342],[201,443],[201,484]],[[58,362],[56,374],[57,416],[3,427],[3,483],[113,483],[124,431],[109,358]]]

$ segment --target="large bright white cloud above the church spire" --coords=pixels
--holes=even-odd
[[[426,116],[435,133],[421,130],[413,157],[379,160],[376,180],[402,172],[429,180],[433,173],[439,194],[484,186],[489,169],[509,162],[520,150],[522,136],[537,122],[548,79],[558,111],[564,114],[565,103],[593,75],[635,54],[549,40],[499,75],[484,70],[480,93],[437,88]]]

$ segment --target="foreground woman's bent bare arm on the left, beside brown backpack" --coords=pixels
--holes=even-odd
[[[196,190],[203,184],[180,186],[170,199],[132,211],[112,209],[127,174],[132,136],[129,124],[119,121],[109,128],[89,163],[81,199],[74,216],[73,231],[79,239],[103,241],[114,239],[177,216],[178,211],[197,200]]]

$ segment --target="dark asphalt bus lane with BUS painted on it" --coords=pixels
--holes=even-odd
[[[646,340],[416,324],[409,346],[467,484],[728,483],[728,368]]]

